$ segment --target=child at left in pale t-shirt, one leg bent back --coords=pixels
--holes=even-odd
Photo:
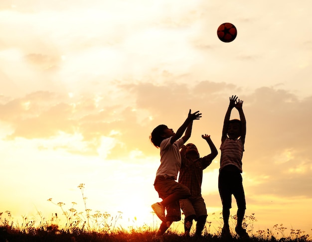
[[[155,235],[155,240],[162,240],[162,235],[167,231],[173,221],[181,220],[179,200],[185,199],[191,195],[189,189],[177,183],[177,174],[181,166],[180,148],[189,139],[194,120],[199,120],[201,114],[199,111],[191,113],[183,124],[177,129],[176,133],[172,128],[164,124],[158,125],[151,133],[152,143],[160,148],[160,165],[156,172],[154,182],[155,190],[158,192],[161,202],[152,205],[152,208],[158,218],[162,221],[159,230]],[[184,136],[181,138],[185,131]],[[164,211],[167,214],[165,216]]]

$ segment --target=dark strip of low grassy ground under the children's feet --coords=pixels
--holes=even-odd
[[[0,227],[1,242],[152,242],[154,231],[116,231],[113,233],[86,232],[80,230],[43,230],[19,231],[10,227]],[[221,242],[219,235],[204,234],[202,238],[185,238],[181,234],[168,232],[164,235],[166,242]],[[233,242],[243,241],[234,237]],[[246,240],[245,240],[246,241]],[[274,236],[254,236],[251,235],[250,242],[308,242],[309,236],[283,237],[277,240]]]

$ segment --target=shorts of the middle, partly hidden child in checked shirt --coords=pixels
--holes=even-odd
[[[195,215],[196,218],[207,216],[206,204],[201,196],[180,200],[180,207],[185,218],[191,215]]]

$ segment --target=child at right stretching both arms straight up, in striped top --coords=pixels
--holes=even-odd
[[[230,208],[232,207],[232,194],[237,203],[237,225],[235,232],[240,237],[249,238],[242,223],[246,210],[245,193],[243,188],[242,157],[244,152],[246,136],[246,119],[243,112],[243,101],[237,101],[238,97],[230,97],[230,104],[225,114],[222,138],[221,138],[221,159],[219,170],[219,193],[222,201],[223,229],[221,237],[232,238],[229,229]],[[240,120],[230,120],[231,111],[236,108]]]

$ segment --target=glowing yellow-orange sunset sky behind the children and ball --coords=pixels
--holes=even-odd
[[[312,229],[311,0],[1,0],[0,212],[47,219],[63,202],[153,223],[158,124],[199,110],[189,142],[219,149],[229,97],[244,101],[246,215],[255,231]],[[238,30],[231,43],[216,35]],[[238,118],[233,110],[231,118]],[[220,151],[204,171],[222,211]],[[236,214],[233,200],[231,215]],[[155,219],[159,224],[159,220]]]

